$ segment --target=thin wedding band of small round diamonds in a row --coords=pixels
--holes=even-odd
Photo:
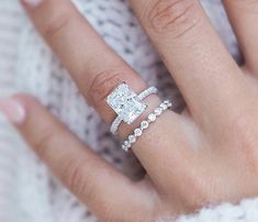
[[[134,143],[136,143],[137,138],[146,131],[149,125],[157,120],[166,110],[172,107],[171,101],[165,100],[159,107],[157,107],[153,113],[150,113],[147,120],[141,122],[139,127],[134,130],[134,133],[131,134],[126,141],[123,142],[122,148],[125,152],[128,152]]]

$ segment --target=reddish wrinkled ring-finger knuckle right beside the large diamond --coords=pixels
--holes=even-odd
[[[122,81],[120,71],[110,69],[97,74],[87,93],[88,101],[97,108],[100,107],[108,95]]]

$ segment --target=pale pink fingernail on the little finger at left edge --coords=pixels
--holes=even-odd
[[[25,120],[25,108],[12,98],[0,100],[0,112],[2,112],[8,120],[14,124],[20,124]]]

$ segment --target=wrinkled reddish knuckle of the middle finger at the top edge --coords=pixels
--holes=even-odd
[[[197,9],[195,1],[158,0],[146,7],[143,16],[147,26],[155,32],[171,32],[177,37],[195,26]]]

